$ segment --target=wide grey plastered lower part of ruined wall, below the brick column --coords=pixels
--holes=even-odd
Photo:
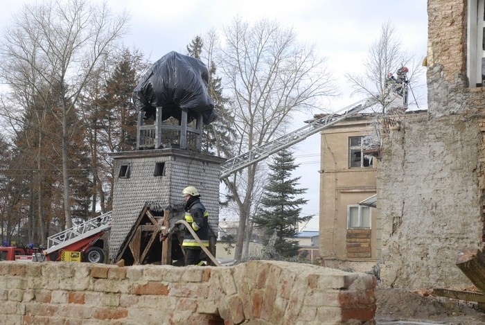
[[[388,286],[470,286],[455,265],[482,240],[477,118],[405,121],[378,173],[383,263]]]

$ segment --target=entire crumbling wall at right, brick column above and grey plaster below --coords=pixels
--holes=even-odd
[[[485,91],[466,78],[466,3],[428,1],[428,116],[404,121],[385,144],[378,209],[389,286],[469,286],[455,261],[482,246]]]

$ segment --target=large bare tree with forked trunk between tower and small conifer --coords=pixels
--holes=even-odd
[[[333,94],[324,60],[312,46],[301,46],[292,28],[267,20],[249,25],[236,17],[224,36],[218,67],[235,114],[238,141],[233,155],[272,141],[284,132],[292,113],[316,107],[322,96]],[[265,177],[258,170],[253,164],[224,179],[239,214],[236,260],[242,256],[247,219]]]

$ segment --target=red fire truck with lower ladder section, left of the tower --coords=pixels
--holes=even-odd
[[[103,235],[111,229],[111,211],[47,238],[47,249],[29,245],[0,247],[0,261],[79,261],[105,263]]]

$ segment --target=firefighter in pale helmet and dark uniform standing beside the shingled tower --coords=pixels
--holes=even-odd
[[[200,202],[200,194],[194,186],[188,186],[182,191],[185,204],[185,221],[191,225],[193,231],[205,247],[209,247],[209,212]],[[186,230],[182,247],[185,248],[185,265],[202,265],[200,260],[200,248],[197,240],[190,231]]]

